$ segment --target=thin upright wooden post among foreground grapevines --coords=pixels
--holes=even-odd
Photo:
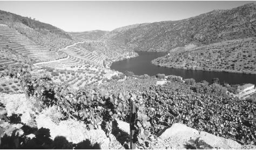
[[[134,135],[134,124],[135,124],[135,101],[133,98],[130,99],[130,149],[135,149],[135,142],[133,141],[133,135]]]

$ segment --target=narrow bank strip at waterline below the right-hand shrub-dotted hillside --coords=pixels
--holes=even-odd
[[[158,58],[157,58],[158,59]],[[157,63],[157,59],[153,59],[151,63],[156,66],[169,67],[172,69],[184,69],[184,70],[201,70],[201,71],[213,71],[213,72],[228,72],[228,73],[243,73],[243,74],[256,74],[256,71],[238,71],[238,70],[228,70],[228,69],[211,69],[205,67],[186,67],[186,66],[171,66],[167,64]]]

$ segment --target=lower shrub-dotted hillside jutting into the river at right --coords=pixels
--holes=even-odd
[[[256,74],[256,38],[227,40],[210,45],[177,47],[152,60],[155,65],[179,69]]]

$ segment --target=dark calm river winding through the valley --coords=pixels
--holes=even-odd
[[[164,73],[167,75],[176,75],[183,77],[183,79],[194,78],[197,82],[206,80],[211,83],[213,78],[219,78],[220,82],[225,81],[228,84],[256,84],[256,74],[242,74],[242,73],[227,73],[227,72],[213,72],[201,70],[185,70],[185,69],[171,69],[168,67],[160,67],[151,64],[151,60],[157,57],[164,56],[163,52],[140,52],[138,57],[114,62],[111,69],[120,72],[132,71],[136,75],[148,74],[149,76],[157,73]]]

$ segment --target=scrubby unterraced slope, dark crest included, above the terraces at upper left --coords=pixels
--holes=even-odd
[[[33,42],[48,47],[51,50],[62,49],[80,40],[56,26],[2,10],[0,10],[0,24],[8,25],[10,28],[33,40]]]

